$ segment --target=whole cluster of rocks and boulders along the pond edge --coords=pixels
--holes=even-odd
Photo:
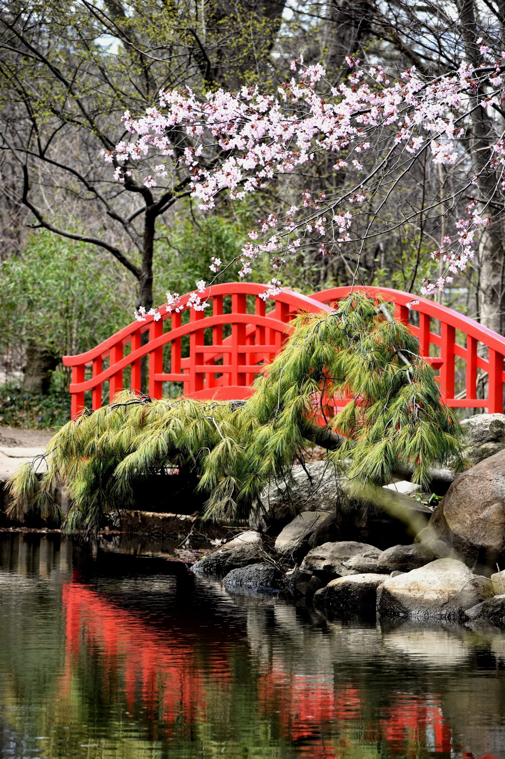
[[[285,591],[324,613],[505,626],[505,570],[492,574],[505,565],[505,416],[480,414],[466,427],[474,460],[493,455],[456,477],[432,513],[401,492],[407,483],[367,513],[349,480],[315,461],[265,492],[253,529],[193,570],[224,578],[229,591]]]

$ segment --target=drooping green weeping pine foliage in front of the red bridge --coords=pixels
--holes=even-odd
[[[356,483],[391,480],[401,462],[426,484],[434,463],[461,464],[462,431],[441,404],[431,367],[384,304],[355,294],[324,315],[301,314],[290,339],[245,404],[190,398],[151,400],[124,393],[55,435],[48,472],[25,465],[11,480],[16,515],[42,512],[67,483],[65,528],[92,532],[107,515],[131,508],[133,486],[149,475],[192,468],[209,495],[206,518],[244,519],[269,480],[290,482],[307,439],[325,427],[328,458]],[[327,417],[328,398],[353,400]]]

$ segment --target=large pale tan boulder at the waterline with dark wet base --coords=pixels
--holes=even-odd
[[[456,559],[437,559],[387,578],[377,594],[381,616],[462,619],[465,609],[494,595],[491,580],[473,575]]]

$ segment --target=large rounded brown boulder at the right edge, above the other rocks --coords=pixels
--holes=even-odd
[[[456,477],[429,528],[469,566],[496,565],[505,552],[505,450]]]

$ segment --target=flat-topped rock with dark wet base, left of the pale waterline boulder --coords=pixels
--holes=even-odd
[[[375,613],[377,589],[386,579],[374,573],[337,578],[317,591],[314,606],[343,614]]]

